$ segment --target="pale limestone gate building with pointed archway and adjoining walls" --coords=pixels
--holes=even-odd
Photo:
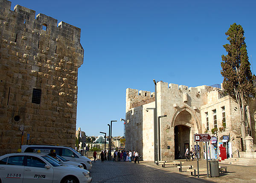
[[[154,160],[155,94],[148,91],[126,89],[126,142],[125,149],[135,149],[144,160]],[[255,144],[256,102],[250,100],[250,121]],[[185,149],[194,147],[195,133],[230,136],[232,151],[243,150],[238,105],[217,87],[157,82],[157,116],[160,118],[160,155],[162,160],[184,158]],[[217,128],[217,134],[212,129]],[[203,143],[199,143],[203,153]]]

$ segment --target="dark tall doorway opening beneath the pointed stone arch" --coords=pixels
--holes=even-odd
[[[189,147],[190,128],[184,125],[174,127],[175,134],[175,159],[185,158],[185,146]]]

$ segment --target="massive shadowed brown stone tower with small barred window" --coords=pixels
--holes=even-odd
[[[75,146],[80,28],[0,0],[0,155]],[[23,134],[23,136],[22,136]]]

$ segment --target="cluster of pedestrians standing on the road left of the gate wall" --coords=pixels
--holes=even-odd
[[[138,151],[134,151],[133,152],[131,150],[128,151],[118,151],[116,150],[114,152],[114,156],[113,156],[113,161],[134,161],[134,163],[140,163],[139,162],[139,152]]]

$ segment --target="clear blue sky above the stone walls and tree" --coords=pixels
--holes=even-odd
[[[125,90],[154,91],[156,81],[189,87],[220,84],[222,45],[231,24],[245,31],[256,68],[254,0],[12,0],[81,28],[77,129],[123,135]],[[250,60],[251,61],[251,60]]]

